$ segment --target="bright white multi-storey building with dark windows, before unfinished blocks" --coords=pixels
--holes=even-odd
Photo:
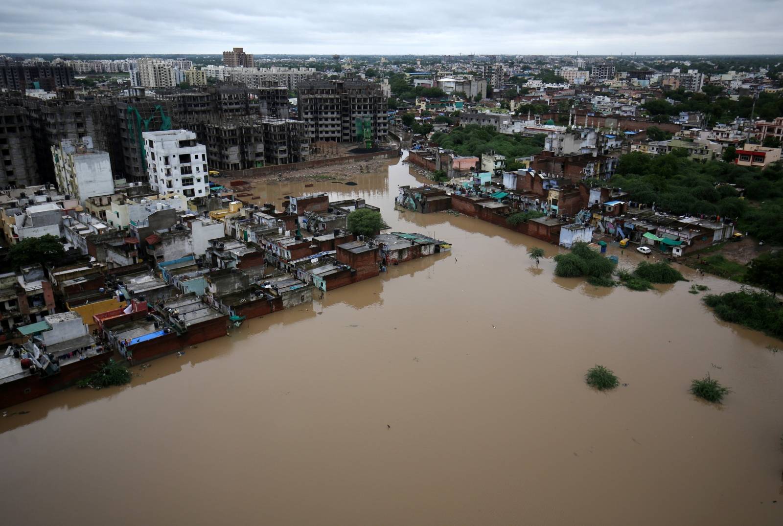
[[[207,147],[188,130],[144,132],[150,186],[161,195],[175,193],[204,197],[208,194]]]

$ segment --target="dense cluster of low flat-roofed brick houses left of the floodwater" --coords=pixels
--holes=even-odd
[[[4,405],[87,376],[114,353],[139,363],[179,351],[450,248],[381,233],[382,223],[356,235],[349,214],[377,207],[327,193],[290,197],[278,211],[226,189],[188,200],[129,186],[86,204],[50,186],[26,190],[0,196],[6,241],[61,239],[66,252],[0,276]]]

